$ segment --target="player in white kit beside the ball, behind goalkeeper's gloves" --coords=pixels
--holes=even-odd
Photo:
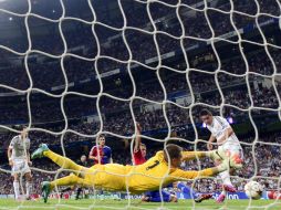
[[[208,141],[209,150],[212,150],[212,143],[217,140],[218,157],[220,158],[216,160],[216,164],[219,164],[222,159],[225,159],[225,157],[230,155],[235,155],[237,159],[242,162],[242,147],[227,119],[220,116],[212,116],[212,114],[208,109],[202,109],[200,112],[200,119],[206,124],[207,128],[211,133]],[[237,191],[230,181],[230,174],[233,172],[232,170],[233,169],[230,169],[229,171],[223,171],[219,174],[222,179],[222,192],[218,197],[217,202],[225,201],[227,191]]]

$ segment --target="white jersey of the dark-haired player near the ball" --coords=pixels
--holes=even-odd
[[[231,127],[231,126],[229,125],[227,119],[225,119],[223,117],[220,117],[220,116],[214,116],[212,124],[207,125],[207,128],[210,130],[212,136],[216,137],[217,141],[219,141],[220,138],[222,138],[225,136],[225,133],[226,133],[227,128],[229,128],[229,127]],[[235,133],[231,136],[229,136],[226,141],[228,141],[228,140],[239,143]]]

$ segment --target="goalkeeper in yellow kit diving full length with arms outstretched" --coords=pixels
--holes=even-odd
[[[32,159],[48,157],[63,169],[72,171],[70,176],[61,179],[55,179],[51,182],[42,182],[42,196],[44,202],[46,202],[48,196],[55,186],[80,185],[111,191],[142,193],[149,190],[157,190],[160,188],[160,185],[165,187],[174,181],[215,176],[221,171],[228,170],[230,167],[241,167],[239,159],[235,159],[231,156],[214,168],[198,171],[184,171],[179,169],[181,161],[191,160],[196,157],[217,158],[217,150],[183,151],[181,147],[174,144],[167,145],[165,150],[158,151],[145,164],[138,166],[107,164],[86,168],[75,164],[66,157],[53,153],[45,144],[40,145],[31,157]]]

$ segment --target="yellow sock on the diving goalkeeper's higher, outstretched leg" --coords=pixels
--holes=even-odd
[[[53,151],[51,151],[50,149],[44,151],[43,155],[48,158],[50,158],[53,162],[55,162],[56,165],[59,165],[60,167],[64,168],[64,169],[71,169],[74,170],[74,172],[76,175],[80,175],[81,170],[82,170],[82,166],[75,164],[74,161],[72,161],[71,159],[60,156]]]

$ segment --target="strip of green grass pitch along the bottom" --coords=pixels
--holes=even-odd
[[[0,199],[0,209],[13,210],[74,210],[74,209],[174,209],[174,210],[208,210],[208,209],[221,209],[221,210],[243,210],[247,209],[249,200],[227,200],[223,204],[217,204],[215,200],[208,200],[202,203],[194,206],[191,200],[179,200],[177,203],[164,203],[160,208],[160,203],[144,203],[139,200],[132,200],[129,207],[127,200],[50,200],[48,203],[43,203],[42,200],[17,202],[13,199]],[[250,210],[281,210],[281,201],[274,200],[256,200],[252,201]]]

